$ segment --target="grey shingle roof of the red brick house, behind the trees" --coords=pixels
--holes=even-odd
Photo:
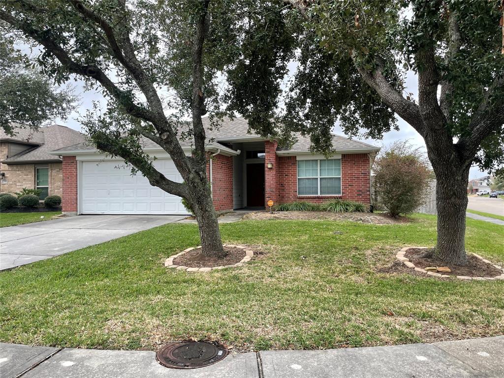
[[[242,117],[236,117],[233,119],[230,118],[224,118],[220,123],[219,123],[219,128],[218,129],[212,129],[210,128],[210,123],[208,118],[203,118],[203,125],[205,129],[207,130],[207,139],[210,140],[213,139],[214,142],[212,143],[213,145],[219,145],[218,142],[230,142],[233,140],[233,138],[236,138],[236,141],[238,142],[240,138],[243,137],[249,137],[249,138],[258,138],[258,139],[264,139],[260,135],[257,134],[249,134],[248,133],[248,122],[246,119]],[[309,137],[303,137],[300,134],[295,135],[297,141],[294,143],[294,145],[291,148],[278,148],[279,151],[292,151],[292,152],[307,152],[309,151],[309,147],[311,145]],[[217,143],[216,143],[217,142]],[[141,141],[141,144],[144,148],[155,148],[158,145],[154,142],[152,142],[149,139],[143,138]],[[182,147],[189,147],[192,144],[194,144],[193,141],[190,140],[184,140],[180,141],[180,144]],[[361,150],[371,150],[371,151],[379,151],[380,148],[376,146],[372,146],[370,144],[348,139],[339,135],[334,135],[333,136],[333,146],[334,149],[339,152],[339,151],[361,151]],[[65,151],[94,151],[96,148],[89,144],[89,143],[79,143],[76,145],[68,146],[65,148],[60,148],[57,151],[58,152],[65,152]]]

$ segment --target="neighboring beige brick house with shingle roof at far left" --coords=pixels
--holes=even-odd
[[[41,190],[41,200],[61,196],[62,160],[49,152],[84,142],[84,134],[59,124],[35,133],[16,126],[14,136],[0,130],[0,193],[20,192],[26,187]]]

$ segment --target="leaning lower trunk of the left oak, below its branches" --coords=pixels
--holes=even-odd
[[[207,257],[225,257],[226,252],[222,246],[217,214],[212,202],[212,193],[208,182],[192,188],[187,185],[191,193],[193,210],[196,215],[198,227],[200,228],[202,253]]]

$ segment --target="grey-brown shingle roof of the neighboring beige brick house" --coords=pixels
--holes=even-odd
[[[16,155],[10,156],[5,159],[3,163],[60,161],[61,159],[55,155],[49,154],[49,152],[61,147],[84,142],[86,139],[84,134],[59,124],[40,128],[37,133],[31,132],[27,128],[17,128],[15,131],[16,135],[14,137],[10,137],[1,131],[0,140],[17,141],[20,143],[37,143],[39,146],[34,146]]]

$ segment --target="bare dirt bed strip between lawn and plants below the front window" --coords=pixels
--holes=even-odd
[[[245,214],[243,220],[339,220],[367,224],[401,224],[409,222],[406,218],[391,218],[385,214],[376,213],[327,213],[324,211],[257,211]]]

